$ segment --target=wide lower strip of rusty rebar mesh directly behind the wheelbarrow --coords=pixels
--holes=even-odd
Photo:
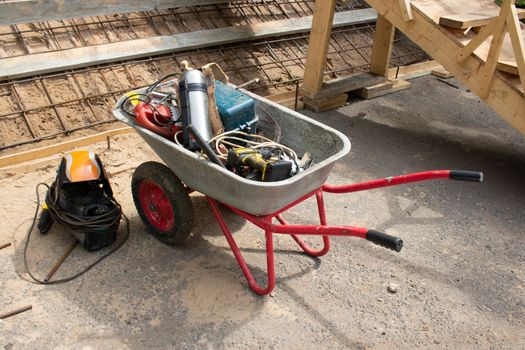
[[[325,76],[335,78],[367,70],[372,33],[371,25],[335,29],[330,41]],[[111,123],[114,121],[111,108],[118,97],[126,91],[150,85],[166,74],[180,72],[180,62],[184,59],[194,66],[215,61],[230,75],[233,83],[258,77],[261,84],[253,90],[262,95],[293,89],[302,81],[307,47],[308,34],[301,34],[261,40],[249,45],[223,45],[1,83],[0,89],[8,92],[0,95],[0,99],[10,96],[15,102],[11,105],[15,108],[0,114],[0,123],[18,119],[16,125],[25,130],[18,131],[16,142],[2,139],[0,150]],[[421,51],[408,44],[406,37],[397,36],[395,48],[393,60],[399,65],[422,58]],[[69,92],[67,96],[58,96],[60,90],[57,90],[57,84],[66,86],[65,91]],[[25,100],[29,97],[24,99],[20,93],[26,90],[36,90],[40,98],[27,104]],[[52,93],[54,90],[58,92]],[[25,95],[34,96],[27,91]],[[83,116],[79,117],[78,114]],[[51,128],[50,132],[35,128],[34,124],[40,120],[36,123],[32,121],[34,115],[54,116],[51,119],[54,119],[56,127]]]

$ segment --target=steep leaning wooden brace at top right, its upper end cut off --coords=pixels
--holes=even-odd
[[[487,60],[482,71],[481,86],[479,96],[486,98],[489,94],[494,73],[496,73],[496,66],[498,64],[499,54],[503,46],[503,39],[505,39],[507,18],[510,13],[510,8],[514,5],[515,0],[503,0],[501,4],[500,14],[496,20],[496,28],[492,36],[492,43],[490,44]]]

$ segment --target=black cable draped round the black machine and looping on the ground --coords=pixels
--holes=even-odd
[[[31,227],[27,231],[26,242],[24,244],[24,267],[25,267],[28,275],[36,283],[39,283],[39,284],[61,284],[61,283],[66,283],[66,282],[72,281],[75,278],[78,278],[78,277],[82,276],[83,274],[85,274],[86,272],[91,270],[93,267],[95,267],[102,260],[106,259],[108,256],[110,256],[111,254],[113,254],[114,252],[119,250],[124,245],[124,243],[128,240],[129,234],[130,234],[129,219],[122,212],[122,207],[120,206],[120,204],[117,202],[117,200],[113,196],[110,197],[110,200],[115,204],[114,210],[110,211],[109,213],[106,213],[106,214],[103,214],[103,215],[99,215],[97,217],[92,217],[92,218],[89,218],[89,219],[79,218],[78,216],[74,216],[74,215],[69,214],[69,213],[60,213],[57,210],[57,208],[54,207],[54,204],[46,203],[48,208],[49,208],[48,210],[50,211],[50,214],[51,214],[53,220],[56,221],[57,223],[63,225],[63,226],[68,226],[70,228],[75,227],[80,232],[90,232],[90,230],[104,229],[104,228],[108,228],[108,227],[112,228],[114,225],[118,225],[120,220],[122,220],[122,218],[124,218],[124,221],[126,222],[126,234],[125,234],[124,238],[122,239],[122,241],[120,243],[118,243],[113,249],[111,249],[109,252],[107,252],[104,255],[102,255],[100,258],[98,258],[97,260],[95,260],[94,262],[89,264],[86,268],[84,268],[84,270],[74,274],[73,276],[62,278],[62,279],[58,279],[58,280],[53,280],[53,281],[44,281],[44,280],[41,280],[41,279],[35,277],[35,275],[33,275],[33,273],[29,270],[29,266],[28,266],[28,263],[27,263],[27,249],[29,247],[29,241],[31,239],[31,235],[32,235],[33,230],[34,230],[35,225],[36,225],[38,211],[39,211],[40,206],[41,206],[41,199],[40,199],[40,193],[39,193],[40,186],[45,186],[45,187],[48,188],[49,191],[51,191],[51,193],[50,193],[50,197],[51,198],[53,198],[54,191],[56,189],[55,183],[53,183],[51,185],[51,187],[50,187],[49,185],[47,185],[45,183],[42,183],[42,182],[39,183],[36,186],[36,189],[35,189],[36,198],[37,198],[37,201],[36,201],[37,204],[36,204],[36,209],[35,209],[35,215],[33,216],[33,223],[31,224]]]

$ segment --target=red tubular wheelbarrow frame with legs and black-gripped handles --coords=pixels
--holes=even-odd
[[[273,248],[273,234],[288,234],[297,242],[297,244],[303,249],[303,251],[310,255],[320,257],[328,253],[330,250],[330,236],[348,236],[348,237],[359,237],[371,241],[372,243],[381,245],[385,248],[389,248],[399,252],[403,247],[403,241],[397,237],[387,235],[382,232],[375,230],[369,230],[363,227],[355,226],[331,226],[327,224],[326,220],[326,210],[323,200],[323,192],[328,193],[350,193],[358,192],[364,190],[371,190],[374,188],[389,187],[402,185],[411,182],[419,182],[426,180],[436,180],[436,179],[452,179],[452,180],[463,180],[463,181],[476,181],[481,182],[483,180],[483,174],[473,171],[463,171],[463,170],[434,170],[434,171],[425,171],[420,173],[413,173],[408,175],[400,175],[394,177],[387,177],[378,180],[372,180],[367,182],[361,182],[352,185],[341,185],[334,186],[324,184],[315,191],[297,199],[296,201],[290,203],[286,207],[280,209],[279,211],[264,216],[251,215],[246,212],[243,212],[235,207],[226,205],[224,206],[229,208],[231,211],[237,215],[242,216],[246,220],[250,221],[254,225],[263,229],[266,235],[266,266],[267,266],[267,285],[265,288],[261,287],[253,277],[253,274],[250,271],[250,268],[246,264],[233,235],[228,228],[224,217],[219,211],[217,201],[206,196],[213,214],[221,227],[222,233],[226,237],[230,248],[235,255],[235,259],[239,263],[239,266],[248,281],[250,288],[259,295],[266,295],[270,293],[275,287],[275,266],[274,266],[274,248]],[[293,225],[289,224],[282,213],[286,210],[296,206],[297,204],[303,202],[304,200],[314,196],[317,199],[317,208],[319,211],[319,221],[320,225]],[[274,224],[273,220],[277,219],[279,224]],[[313,235],[313,236],[322,236],[323,237],[323,248],[319,250],[314,250],[310,248],[299,236],[300,235]]]

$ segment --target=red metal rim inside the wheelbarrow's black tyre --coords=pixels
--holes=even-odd
[[[139,200],[153,226],[169,231],[175,224],[173,207],[164,190],[154,182],[144,180],[139,186]]]

